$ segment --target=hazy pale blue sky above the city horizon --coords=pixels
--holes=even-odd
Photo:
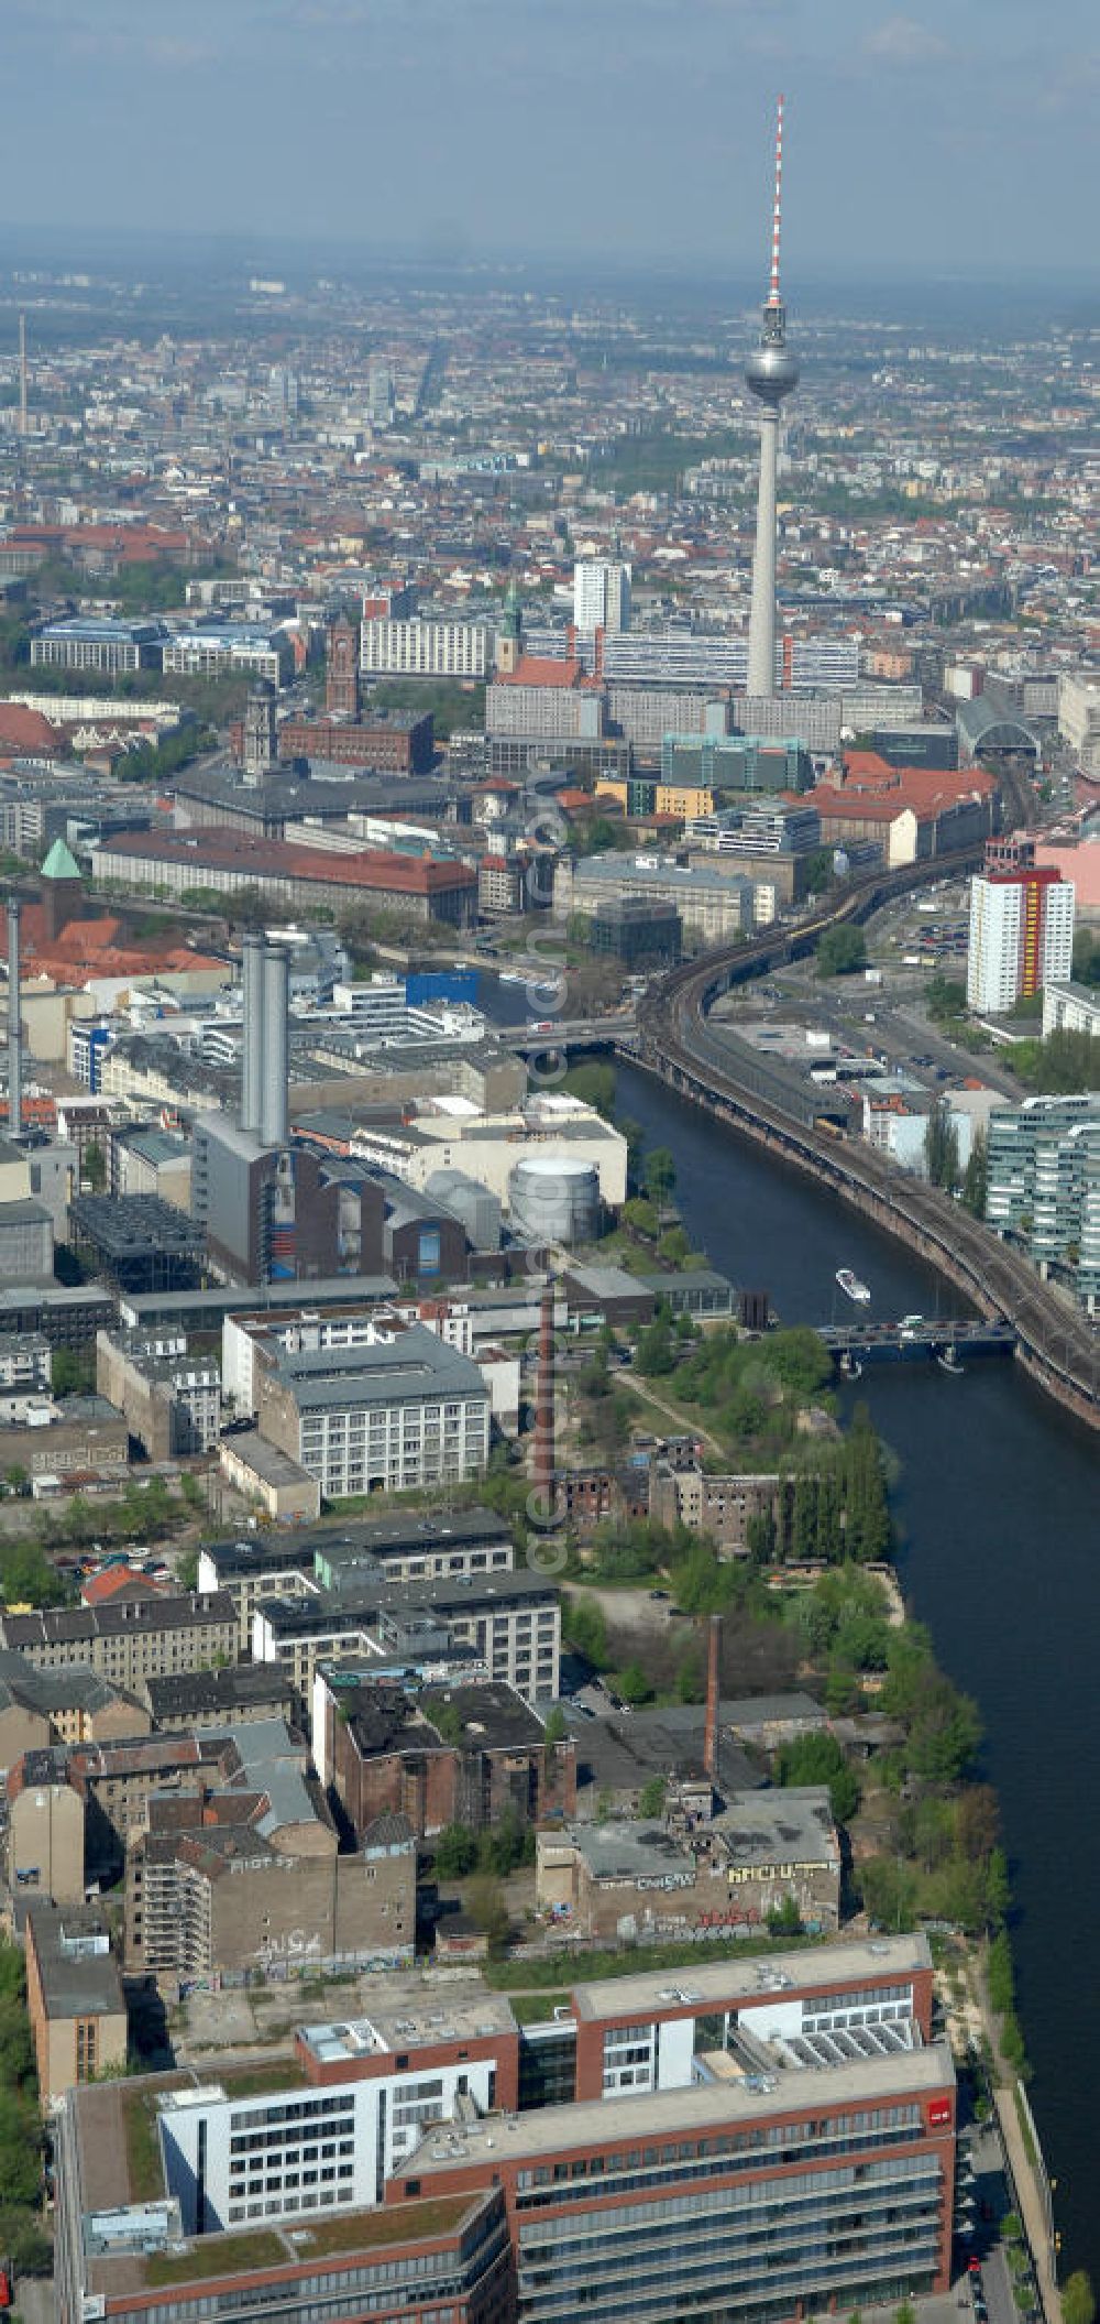
[[[1095,0],[0,0],[19,225],[1091,267]]]

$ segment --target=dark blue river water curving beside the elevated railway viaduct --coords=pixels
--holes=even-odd
[[[733,1283],[766,1290],[782,1322],[961,1313],[900,1243],[636,1067],[617,1069],[617,1111],[647,1146],[673,1150],[692,1241]],[[870,1285],[868,1311],[838,1292],[838,1267]],[[1100,2284],[1098,1446],[1012,1362],[972,1364],[963,1378],[935,1364],[868,1367],[859,1394],[900,1462],[905,1597],[982,1706],[1061,2266]]]

